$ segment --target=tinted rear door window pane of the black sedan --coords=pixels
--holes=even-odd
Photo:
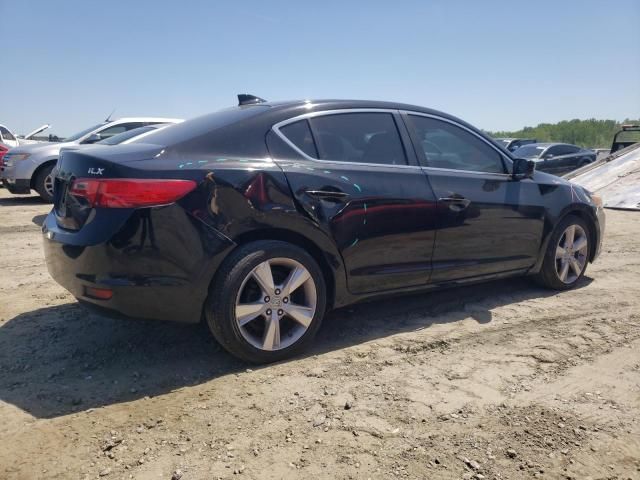
[[[322,160],[406,165],[390,113],[341,113],[309,119]]]

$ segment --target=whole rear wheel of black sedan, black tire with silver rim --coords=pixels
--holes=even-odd
[[[288,285],[291,292],[285,291]],[[310,345],[326,297],[322,271],[311,255],[286,242],[256,241],[232,252],[219,268],[205,318],[229,353],[251,363],[271,363]]]

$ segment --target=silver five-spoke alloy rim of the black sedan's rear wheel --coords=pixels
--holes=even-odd
[[[235,321],[255,348],[281,350],[305,334],[315,316],[316,302],[316,285],[304,265],[290,258],[271,258],[242,282]]]

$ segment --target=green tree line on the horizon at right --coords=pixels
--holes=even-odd
[[[640,124],[638,120],[563,120],[524,127],[515,132],[488,132],[493,137],[535,138],[538,142],[562,142],[585,148],[609,148],[613,136],[623,124]]]

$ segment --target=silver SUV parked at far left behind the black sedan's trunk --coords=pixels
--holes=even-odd
[[[137,117],[108,120],[82,130],[60,143],[38,143],[11,149],[0,167],[0,179],[4,186],[15,194],[35,190],[46,202],[53,201],[53,179],[51,170],[58,160],[60,149],[75,145],[88,145],[106,140],[114,135],[134,128],[158,123],[177,123],[181,119]]]

